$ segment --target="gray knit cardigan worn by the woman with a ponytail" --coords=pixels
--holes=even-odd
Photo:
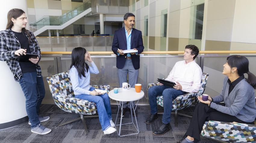
[[[236,84],[234,89],[229,92],[228,77],[224,79],[223,88],[220,95],[213,97],[214,102],[223,102],[225,106],[211,103],[211,108],[217,111],[236,116],[236,118],[253,122],[256,117],[256,104],[253,87],[245,80],[241,80]]]

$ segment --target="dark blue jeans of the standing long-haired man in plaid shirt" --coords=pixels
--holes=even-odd
[[[30,127],[36,127],[39,121],[39,108],[45,97],[43,77],[37,77],[36,72],[23,73],[19,80],[20,86],[26,98],[26,111],[31,123]]]

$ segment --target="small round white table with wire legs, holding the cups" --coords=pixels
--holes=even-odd
[[[135,88],[130,88],[130,89],[126,89],[126,90],[123,90],[122,88],[118,88],[118,89],[120,89],[120,91],[118,93],[114,93],[114,89],[111,90],[110,92],[108,92],[109,98],[117,101],[117,106],[118,106],[117,117],[119,116],[119,114],[118,114],[119,113],[119,109],[121,110],[120,124],[116,124],[117,123],[117,117],[116,117],[116,121],[115,121],[115,125],[119,126],[119,132],[117,130],[117,134],[118,134],[118,136],[121,136],[120,135],[120,133],[121,133],[121,126],[124,125],[124,124],[133,124],[135,126],[135,124],[133,122],[132,112],[134,112],[135,121],[136,121],[136,125],[137,125],[137,127],[135,126],[135,128],[136,128],[136,130],[138,132],[137,133],[133,133],[133,134],[128,134],[128,135],[138,134],[139,133],[139,127],[138,127],[138,122],[137,122],[137,119],[136,119],[135,110],[136,110],[137,104],[139,102],[139,99],[144,97],[144,92],[140,91],[139,93],[137,93],[135,91]],[[138,100],[138,101],[137,101],[136,107],[134,108],[132,101],[136,101],[136,100]],[[131,123],[124,123],[124,124],[122,124],[122,118],[123,118],[123,102],[122,101],[131,101],[131,104],[130,104],[131,120],[132,120]],[[128,136],[128,135],[122,135],[122,136]]]

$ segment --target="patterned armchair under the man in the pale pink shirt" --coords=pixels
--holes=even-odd
[[[175,111],[175,127],[177,127],[178,125],[178,115],[182,115],[189,118],[192,117],[186,114],[178,113],[178,110],[191,107],[192,105],[198,103],[197,96],[200,96],[204,93],[208,77],[209,77],[209,74],[207,73],[202,74],[201,87],[198,92],[180,95],[175,100],[173,100],[172,111]],[[150,88],[151,86],[157,86],[157,85],[159,84],[149,83],[148,88]],[[164,98],[162,95],[159,95],[157,97],[157,104],[164,107]],[[162,114],[162,113],[159,113],[159,114]]]

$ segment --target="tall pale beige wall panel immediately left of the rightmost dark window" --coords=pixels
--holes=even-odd
[[[189,38],[191,8],[180,10],[180,38]]]

